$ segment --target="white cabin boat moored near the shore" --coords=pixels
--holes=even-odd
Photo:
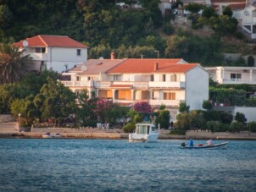
[[[129,134],[129,142],[151,142],[159,139],[153,123],[136,123],[135,133]]]

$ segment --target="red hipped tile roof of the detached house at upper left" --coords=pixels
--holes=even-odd
[[[81,42],[71,39],[69,36],[47,36],[39,35],[26,38],[28,47],[77,47],[86,48]],[[14,44],[16,47],[23,47],[23,40]]]

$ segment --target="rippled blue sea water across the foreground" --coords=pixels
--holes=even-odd
[[[256,141],[183,141],[0,139],[0,191],[256,191]]]

